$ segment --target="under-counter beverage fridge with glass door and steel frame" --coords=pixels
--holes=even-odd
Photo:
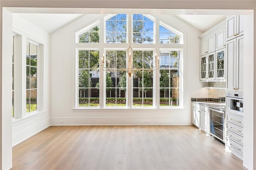
[[[225,112],[210,108],[210,134],[224,142]]]

